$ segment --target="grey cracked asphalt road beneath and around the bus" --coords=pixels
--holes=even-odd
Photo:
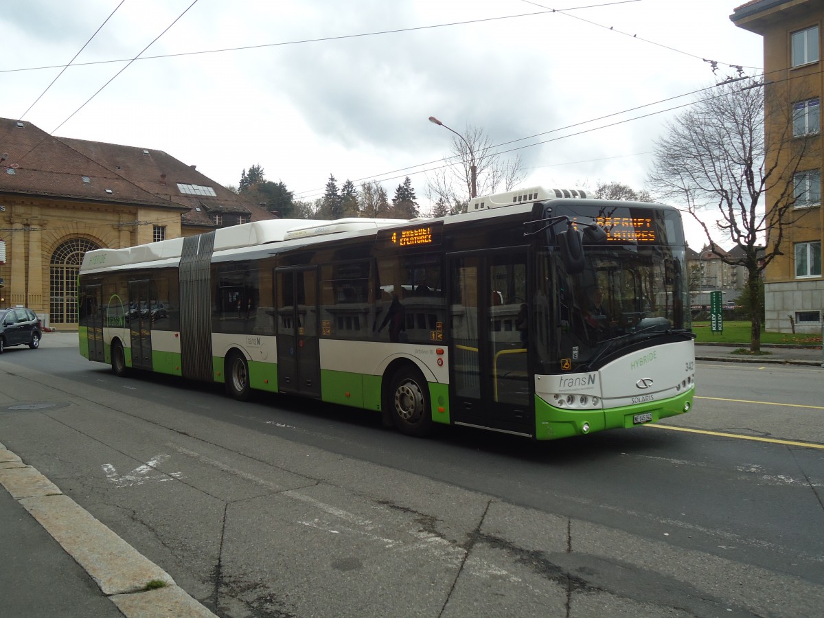
[[[667,427],[414,440],[9,349],[0,442],[220,616],[817,616],[821,369],[698,379]]]

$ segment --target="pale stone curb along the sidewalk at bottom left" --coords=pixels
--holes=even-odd
[[[217,618],[151,560],[27,466],[0,442],[0,485],[86,570],[126,618],[195,616]],[[164,588],[147,590],[160,580]]]

